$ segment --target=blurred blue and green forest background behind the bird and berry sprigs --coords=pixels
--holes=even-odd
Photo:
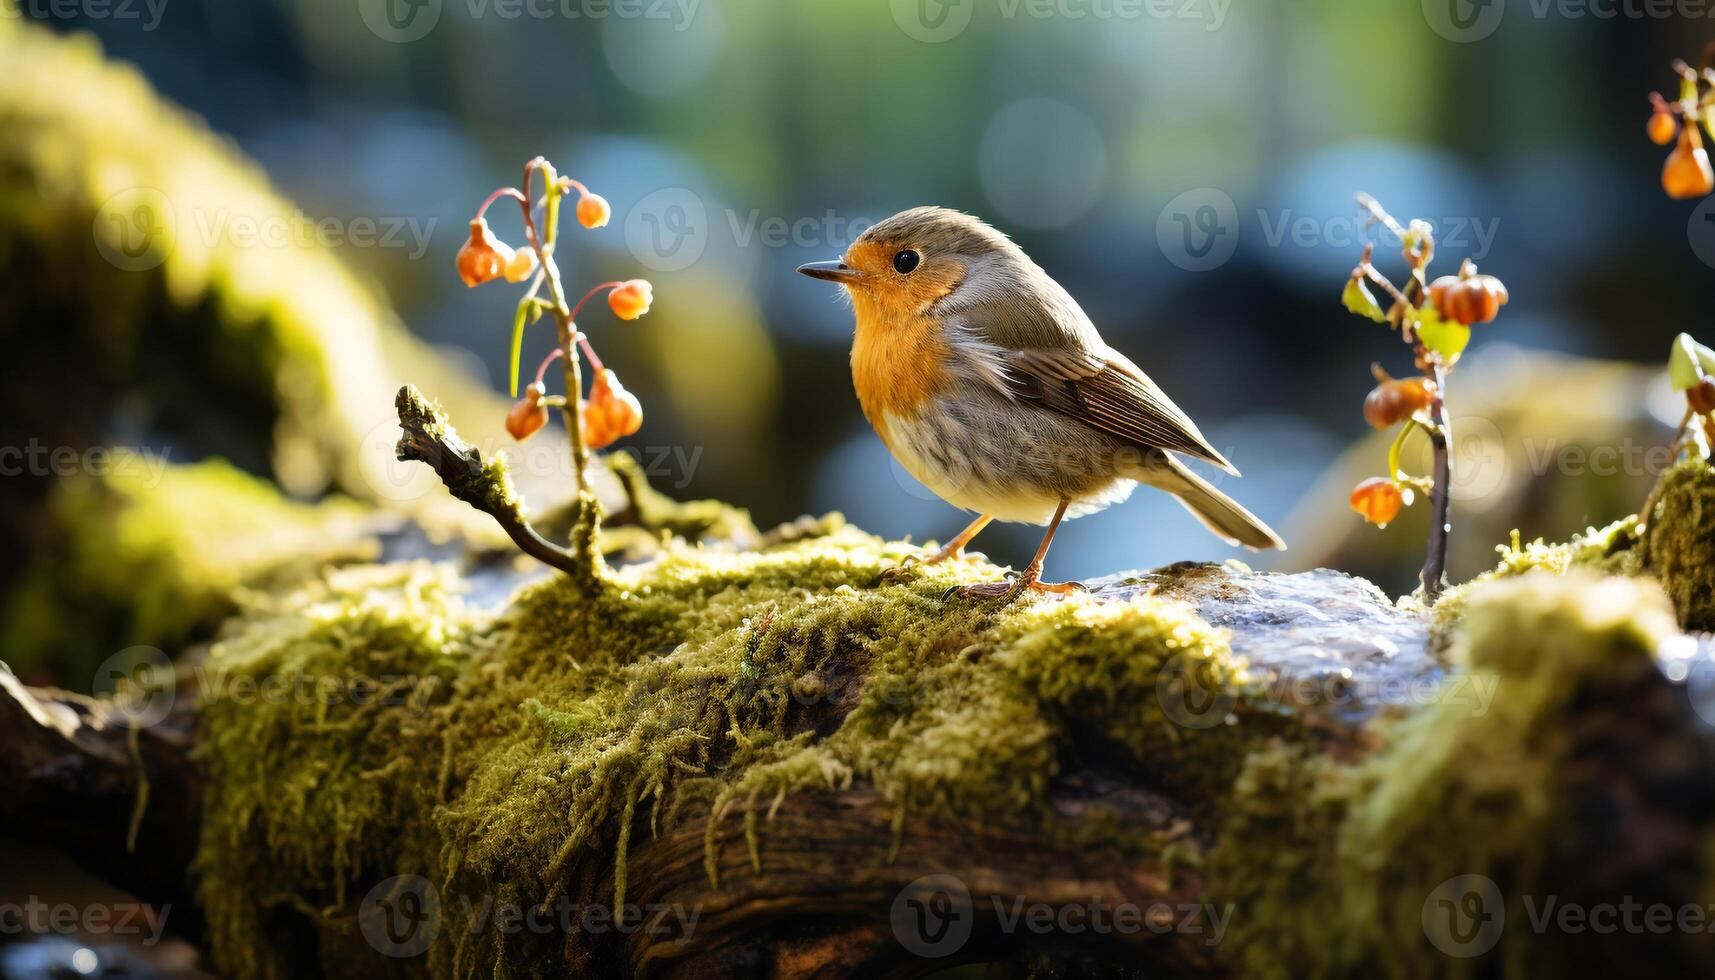
[[[1381,470],[1379,448],[1336,463],[1369,433],[1369,364],[1410,371],[1398,342],[1338,304],[1365,240],[1381,240],[1382,266],[1398,269],[1351,194],[1434,221],[1439,271],[1471,256],[1511,287],[1461,367],[1473,381],[1454,417],[1483,405],[1471,451],[1483,458],[1492,443],[1516,462],[1458,505],[1456,522],[1490,518],[1456,525],[1454,572],[1483,566],[1507,527],[1564,537],[1621,517],[1650,463],[1595,474],[1612,477],[1602,493],[1547,493],[1538,484],[1576,487],[1592,474],[1571,472],[1564,443],[1545,439],[1593,438],[1643,460],[1667,436],[1648,412],[1648,376],[1585,376],[1526,352],[1653,366],[1674,333],[1700,330],[1715,225],[1706,206],[1662,194],[1665,151],[1643,124],[1646,91],[1674,82],[1669,60],[1694,58],[1715,36],[1703,14],[1559,0],[26,0],[7,10],[94,34],[206,118],[309,220],[331,221],[331,247],[417,336],[490,386],[504,386],[513,293],[466,290],[453,273],[473,206],[537,153],[604,194],[612,223],[569,233],[563,268],[573,287],[655,283],[648,318],[621,324],[604,311],[587,328],[643,400],[645,427],[624,445],[667,493],[734,499],[763,525],[835,508],[888,535],[962,525],[863,422],[847,304],[792,271],[837,256],[870,221],[938,203],[1012,233],[1245,470],[1226,489],[1295,546],[1259,563],[1345,563],[1394,590],[1413,585],[1422,529],[1375,532],[1345,510],[1355,477]],[[19,137],[0,130],[9,139]],[[516,216],[496,215],[516,240]],[[379,240],[360,233],[365,221]],[[9,333],[27,336],[22,326]],[[527,366],[549,347],[535,331]],[[12,355],[12,371],[27,372],[27,350]],[[1494,369],[1482,374],[1485,362]],[[346,384],[386,414],[388,384]],[[221,407],[220,395],[204,405]],[[1566,429],[1574,408],[1595,417]],[[1523,429],[1526,415],[1549,427]],[[118,441],[197,457],[163,426]],[[319,493],[316,481],[288,489]],[[993,530],[981,544],[1017,565],[1036,534]],[[1050,573],[1231,554],[1168,498],[1140,493],[1068,525]]]

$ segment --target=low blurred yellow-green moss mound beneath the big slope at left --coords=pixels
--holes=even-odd
[[[55,484],[43,546],[0,608],[7,661],[82,687],[113,650],[178,649],[213,633],[238,587],[374,558],[367,513],[352,501],[290,501],[218,460],[175,467],[115,451],[101,475]]]

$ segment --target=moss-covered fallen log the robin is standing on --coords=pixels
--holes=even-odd
[[[996,609],[942,597],[979,561],[880,585],[911,551],[839,522],[667,542],[499,609],[420,563],[329,572],[180,664],[141,748],[0,685],[0,807],[146,894],[194,880],[245,977],[1715,965],[1701,932],[1528,925],[1715,901],[1708,652],[1652,582],[1538,570],[1427,616],[1183,565]],[[322,693],[245,693],[281,678]],[[1437,927],[1468,880],[1492,918]],[[422,947],[365,925],[400,882],[436,899]],[[653,929],[528,916],[616,908]]]

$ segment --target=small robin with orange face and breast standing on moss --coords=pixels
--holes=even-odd
[[[978,515],[923,565],[964,556],[993,520],[1048,525],[1022,573],[962,596],[1080,589],[1041,580],[1055,530],[1123,501],[1140,482],[1178,498],[1228,544],[1286,547],[1175,457],[1238,475],[1142,369],[1101,340],[1067,290],[984,221],[912,208],[871,225],[842,259],[797,271],[851,293],[852,383],[888,451],[936,496]]]

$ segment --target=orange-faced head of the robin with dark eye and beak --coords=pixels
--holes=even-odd
[[[1017,264],[1031,261],[1007,235],[979,218],[948,208],[912,208],[871,225],[828,263],[797,271],[844,285],[859,321],[883,323],[923,316],[962,290],[1005,288],[1017,281]]]

